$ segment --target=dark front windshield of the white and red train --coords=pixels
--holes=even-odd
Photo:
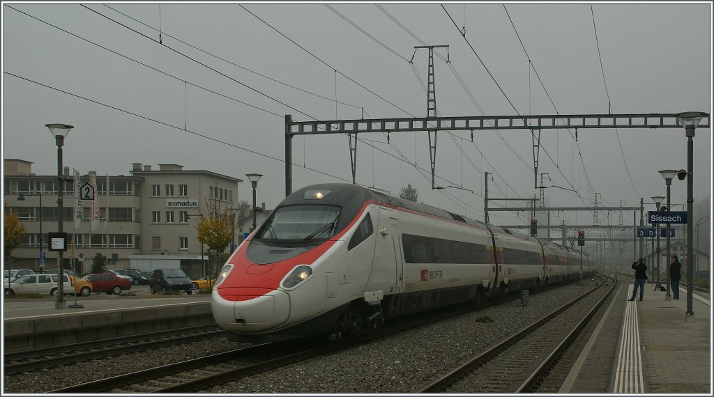
[[[336,232],[340,207],[289,205],[278,208],[256,238],[278,241],[328,239]]]

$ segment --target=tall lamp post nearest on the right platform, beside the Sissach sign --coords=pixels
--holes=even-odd
[[[692,309],[693,305],[693,291],[692,291],[692,281],[694,278],[694,267],[692,266],[692,237],[693,237],[693,225],[692,217],[694,210],[694,130],[699,125],[706,113],[702,112],[684,112],[677,113],[675,116],[677,120],[684,126],[685,135],[687,137],[687,311],[685,312],[685,322],[694,321],[694,311]]]

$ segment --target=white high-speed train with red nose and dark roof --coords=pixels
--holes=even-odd
[[[312,185],[233,252],[211,311],[231,341],[338,339],[578,278],[580,266],[580,252],[553,242],[356,185]]]

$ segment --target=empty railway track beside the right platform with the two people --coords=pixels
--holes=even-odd
[[[451,372],[421,386],[420,393],[523,393],[539,391],[548,376],[596,312],[615,283],[600,283],[578,299],[491,346]],[[488,363],[488,364],[487,364]],[[560,371],[562,372],[562,371]],[[551,386],[552,387],[552,386]]]

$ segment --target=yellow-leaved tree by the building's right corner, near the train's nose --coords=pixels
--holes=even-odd
[[[223,252],[233,241],[236,232],[236,215],[235,211],[221,200],[206,199],[206,209],[208,212],[199,210],[201,220],[196,225],[196,238],[198,242],[208,246],[209,258],[210,250],[215,252],[215,271],[211,274],[218,274],[218,260],[223,257]]]

